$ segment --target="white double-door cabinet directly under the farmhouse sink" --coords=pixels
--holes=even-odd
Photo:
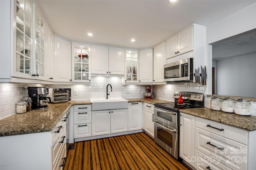
[[[92,111],[92,136],[128,131],[128,109]]]

